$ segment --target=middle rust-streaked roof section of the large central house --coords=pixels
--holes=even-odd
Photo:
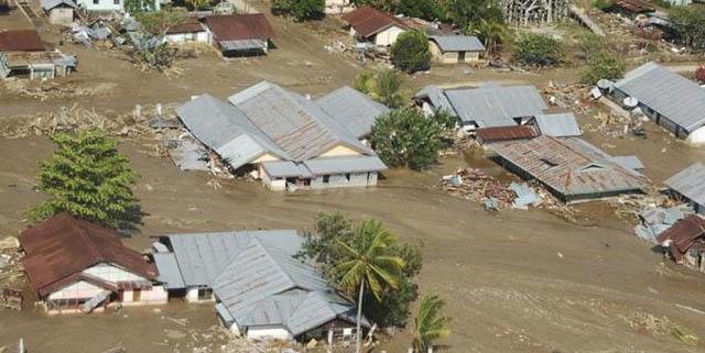
[[[288,159],[313,158],[340,144],[373,154],[318,106],[274,84],[259,82],[229,100],[286,152]]]

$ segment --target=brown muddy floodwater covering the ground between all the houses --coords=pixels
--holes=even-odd
[[[0,27],[23,25],[13,19],[0,18]],[[0,89],[0,120],[73,102],[110,113],[129,111],[137,103],[184,101],[200,92],[226,97],[262,79],[313,95],[352,84],[361,65],[323,48],[332,34],[317,29],[334,27],[334,22],[303,25],[270,20],[278,48],[267,57],[224,62],[206,52],[180,60],[184,74],[174,78],[141,73],[113,52],[65,44],[62,49],[77,53],[80,66],[59,81],[93,92],[40,101]],[[55,29],[44,27],[42,34],[57,40]],[[410,77],[406,87],[487,80],[543,87],[549,80],[575,78],[568,69],[528,74],[446,66]],[[581,117],[581,122],[589,123],[590,117]],[[655,185],[694,161],[705,161],[703,150],[676,142],[658,128],[648,130],[646,141],[599,133],[586,133],[586,139],[616,155],[638,155]],[[258,183],[220,180],[223,188],[215,190],[206,185],[210,176],[181,173],[169,159],[150,156],[154,143],[123,139],[121,145],[141,175],[137,192],[149,213],[142,234],[126,241],[137,250],[149,245],[149,236],[164,233],[304,230],[315,213],[339,210],[355,219],[380,219],[403,241],[423,241],[422,291],[441,294],[448,300],[447,313],[455,318],[453,335],[443,341],[449,352],[705,351],[705,344],[686,344],[671,333],[679,328],[705,339],[703,276],[664,263],[632,235],[633,224],[618,220],[605,205],[582,206],[581,224],[544,211],[487,213],[437,187],[442,175],[468,164],[501,173],[476,156],[444,158],[426,173],[390,170],[373,189],[283,195],[268,192]],[[22,210],[42,199],[32,190],[36,161],[51,150],[45,137],[0,140],[1,236],[26,228]],[[167,339],[164,331],[185,329],[164,317],[187,318],[187,327],[197,331],[217,323],[212,306],[176,301],[161,310],[129,308],[119,315],[52,318],[31,308],[0,311],[0,348],[24,338],[32,353],[97,353],[118,344],[128,352],[186,352],[187,339]],[[405,352],[408,345],[409,328],[382,348]]]

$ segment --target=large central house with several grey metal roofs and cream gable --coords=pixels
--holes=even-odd
[[[312,101],[262,81],[228,100],[203,95],[176,113],[236,174],[272,190],[375,186],[387,169],[360,141],[387,108],[358,91]]]

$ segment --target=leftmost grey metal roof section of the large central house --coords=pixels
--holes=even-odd
[[[176,113],[196,139],[228,161],[232,168],[265,153],[280,158],[289,157],[237,107],[209,95],[199,96],[176,108]]]

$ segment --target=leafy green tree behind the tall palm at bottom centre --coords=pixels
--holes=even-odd
[[[346,244],[362,242],[360,232],[354,230],[352,222],[343,213],[319,213],[316,216],[315,232],[306,234],[299,256],[316,261],[326,278],[333,278],[333,268],[349,257],[338,241]],[[366,290],[364,313],[382,327],[404,327],[411,302],[419,296],[414,277],[421,272],[421,244],[397,244],[390,247],[390,254],[404,261],[399,287],[393,290],[386,288],[380,300],[369,289]]]

